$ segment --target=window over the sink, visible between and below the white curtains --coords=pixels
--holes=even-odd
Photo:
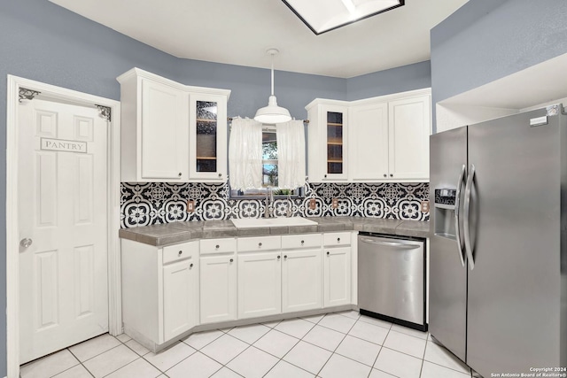
[[[277,139],[276,127],[262,127],[262,188],[261,189],[230,189],[230,197],[266,197],[266,189],[270,188],[274,196],[300,197],[303,189],[279,189],[277,187]]]

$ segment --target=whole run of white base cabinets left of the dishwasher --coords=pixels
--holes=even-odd
[[[351,234],[122,239],[124,330],[158,351],[199,324],[351,305]]]

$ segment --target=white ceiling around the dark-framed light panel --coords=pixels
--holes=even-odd
[[[268,68],[276,48],[276,70],[340,78],[429,59],[431,28],[467,1],[406,0],[315,35],[281,0],[50,0],[175,57]]]

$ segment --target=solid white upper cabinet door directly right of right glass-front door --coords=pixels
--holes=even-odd
[[[349,174],[353,181],[388,177],[388,104],[355,106],[350,111]]]

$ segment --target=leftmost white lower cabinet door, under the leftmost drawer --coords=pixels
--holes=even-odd
[[[197,325],[198,263],[193,258],[163,267],[164,340]]]

